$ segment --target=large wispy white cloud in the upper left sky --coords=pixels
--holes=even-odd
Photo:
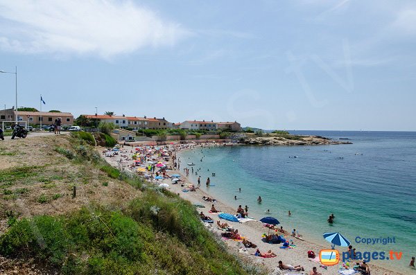
[[[0,48],[19,53],[110,58],[189,35],[179,24],[132,1],[0,0]]]

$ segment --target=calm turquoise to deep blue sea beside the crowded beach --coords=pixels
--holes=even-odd
[[[207,191],[213,197],[235,209],[248,205],[250,216],[261,218],[270,209],[285,229],[295,228],[328,248],[322,233],[336,231],[357,251],[402,251],[402,260],[377,262],[409,272],[410,258],[416,256],[416,132],[296,133],[354,144],[199,148],[182,152],[181,166],[196,163],[203,190],[210,177],[215,186]],[[197,176],[191,179],[196,182]],[[332,226],[327,223],[331,213],[336,216]],[[357,236],[395,237],[396,243],[363,245],[356,243]]]

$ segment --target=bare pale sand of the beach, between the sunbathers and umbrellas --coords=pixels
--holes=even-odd
[[[200,146],[206,147],[209,145],[207,144],[168,145],[168,147],[166,147],[166,154],[175,155],[177,154],[177,152],[180,152],[180,150],[189,150],[189,146],[193,146],[193,148],[195,148],[195,147],[200,147]],[[105,149],[100,148],[99,150],[103,152]],[[137,168],[139,167],[138,166],[132,167],[132,165],[134,165],[132,154],[135,154],[136,152],[135,150],[136,150],[135,148],[125,146],[123,148],[120,148],[120,150],[118,151],[118,154],[114,155],[114,157],[105,157],[104,153],[103,153],[103,156],[105,160],[114,167],[127,169],[132,172],[136,172]],[[159,155],[153,155],[150,158],[153,161],[159,161],[159,160],[163,161],[163,158],[159,157]],[[165,162],[166,166],[173,167],[174,166],[173,158],[169,157],[168,159],[169,161]],[[218,218],[218,213],[209,213],[209,210],[211,209],[211,204],[214,204],[215,208],[219,211],[222,211],[223,213],[230,213],[234,215],[236,214],[236,209],[238,208],[239,204],[241,204],[244,207],[244,202],[234,202],[234,201],[207,202],[205,201],[204,199],[202,199],[202,197],[211,197],[211,195],[209,194],[209,187],[205,186],[206,179],[201,179],[201,188],[196,188],[196,191],[183,192],[182,190],[188,189],[187,187],[189,186],[189,184],[193,184],[194,186],[197,186],[196,182],[190,182],[188,177],[186,177],[186,173],[184,172],[183,169],[184,168],[191,169],[191,166],[187,166],[187,163],[183,163],[183,162],[182,161],[180,162],[179,170],[173,169],[173,170],[167,171],[167,175],[174,175],[174,174],[181,175],[180,179],[182,179],[182,181],[178,182],[178,184],[172,184],[173,181],[169,177],[166,177],[164,179],[159,179],[159,180],[150,179],[149,182],[155,185],[159,185],[162,183],[168,184],[169,187],[167,189],[170,190],[171,192],[180,195],[180,197],[187,199],[192,204],[198,204],[200,206],[204,206],[201,208],[198,207],[197,211],[198,212],[202,211],[202,213],[204,213],[205,215],[209,216],[210,218],[214,220],[214,223],[204,223],[205,226],[213,233],[220,235],[220,233],[223,233],[223,231],[217,229],[217,225],[216,225],[217,220],[220,220],[220,219]],[[157,172],[158,170],[159,168],[156,168],[155,172]],[[263,227],[262,222],[258,221],[259,219],[263,217],[250,215],[250,209],[248,211],[248,215],[254,218],[255,220],[249,221],[249,222],[243,222],[243,223],[228,222],[225,220],[220,220],[220,222],[227,222],[227,224],[229,224],[229,226],[231,226],[233,229],[238,229],[239,234],[242,237],[250,240],[250,242],[253,242],[255,245],[257,245],[258,249],[261,252],[266,252],[269,249],[271,249],[271,251],[277,254],[277,256],[275,258],[261,258],[259,256],[254,256],[252,254],[255,253],[256,249],[254,248],[245,249],[241,241],[223,240],[227,244],[227,247],[229,247],[229,249],[233,251],[234,253],[239,254],[239,256],[245,259],[251,260],[254,263],[258,263],[262,265],[266,270],[268,270],[268,272],[270,272],[270,274],[309,274],[309,272],[311,271],[313,267],[318,267],[318,272],[324,275],[339,274],[338,271],[340,270],[340,264],[325,267],[321,265],[319,262],[316,262],[316,260],[312,261],[307,257],[307,251],[312,250],[318,256],[319,251],[321,249],[328,249],[329,244],[324,243],[324,240],[322,240],[322,243],[314,243],[311,240],[298,240],[297,238],[293,238],[291,236],[290,234],[290,232],[292,231],[291,228],[285,227],[285,224],[279,224],[278,227],[282,226],[284,230],[289,232],[289,233],[283,234],[284,238],[286,238],[286,240],[290,240],[291,243],[293,242],[293,245],[295,245],[295,247],[291,249],[281,249],[279,248],[281,247],[281,244],[269,244],[261,240],[262,238],[261,236],[263,235],[263,233],[268,233],[268,229],[266,227]],[[267,214],[265,213],[265,216],[266,215]],[[343,251],[347,250],[347,247],[342,247],[339,250],[340,250],[340,253],[342,253]],[[299,272],[296,272],[296,271],[289,272],[288,270],[280,271],[278,268],[276,269],[276,267],[278,267],[279,260],[283,261],[283,263],[288,264],[288,265],[293,265],[293,266],[301,265],[302,267],[304,267],[304,271],[299,271]],[[354,263],[355,262],[356,261],[354,261]],[[352,267],[352,263],[350,266]],[[370,263],[369,266],[370,266],[370,270],[372,274],[404,274],[404,273],[394,272],[394,271],[385,269],[383,267],[379,267],[372,263]]]

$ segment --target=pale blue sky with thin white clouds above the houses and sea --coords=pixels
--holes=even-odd
[[[0,0],[17,105],[74,116],[416,131],[415,48],[415,1]]]

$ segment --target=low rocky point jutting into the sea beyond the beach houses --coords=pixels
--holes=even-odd
[[[349,141],[335,141],[324,136],[246,136],[240,143],[248,145],[337,145],[352,144]]]

